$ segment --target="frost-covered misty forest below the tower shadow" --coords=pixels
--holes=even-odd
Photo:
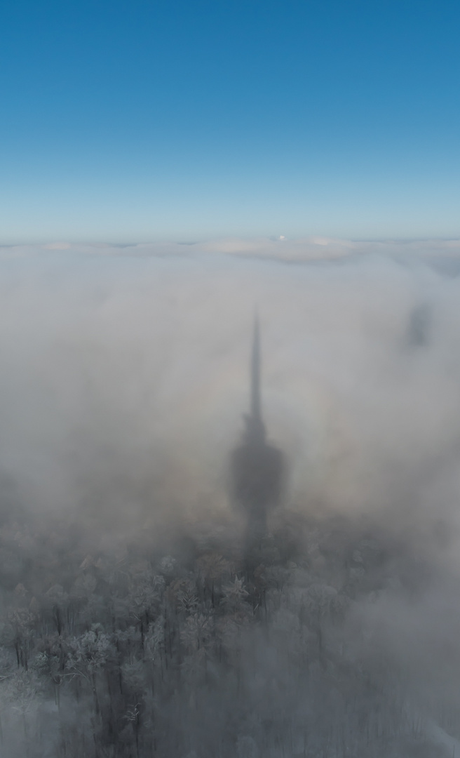
[[[3,756],[455,755],[451,694],[382,631],[388,597],[427,590],[410,546],[285,513],[248,575],[221,527],[85,554],[68,525],[4,518]]]

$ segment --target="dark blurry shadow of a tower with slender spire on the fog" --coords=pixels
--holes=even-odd
[[[243,443],[232,454],[233,499],[246,513],[246,550],[255,549],[267,532],[268,512],[280,501],[283,456],[267,443],[261,413],[261,340],[255,317],[250,362],[250,409]]]

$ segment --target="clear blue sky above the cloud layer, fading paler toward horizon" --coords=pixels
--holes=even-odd
[[[458,0],[14,0],[0,242],[460,236]]]

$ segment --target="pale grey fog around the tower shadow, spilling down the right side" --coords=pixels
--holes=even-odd
[[[435,693],[455,714],[458,259],[456,242],[4,248],[2,518],[71,523],[96,557],[165,524],[214,522],[224,539],[257,309],[283,510],[311,523],[272,633],[321,577],[351,602],[337,641],[347,666],[355,656],[381,683],[390,661],[414,713]],[[355,600],[344,572],[364,587]],[[452,752],[455,738],[430,729]]]

